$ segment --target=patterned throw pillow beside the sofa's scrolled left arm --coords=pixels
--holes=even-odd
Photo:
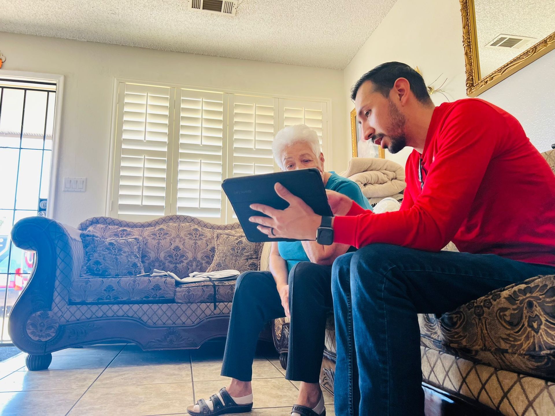
[[[102,239],[81,234],[84,258],[81,276],[137,276],[144,273],[142,237]]]

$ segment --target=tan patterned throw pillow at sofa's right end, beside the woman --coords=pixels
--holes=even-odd
[[[253,243],[246,239],[244,234],[237,232],[216,231],[214,233],[216,253],[214,261],[206,272],[219,270],[260,270],[260,256],[262,243]]]

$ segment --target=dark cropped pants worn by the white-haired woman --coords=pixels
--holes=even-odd
[[[327,314],[332,308],[331,266],[297,263],[289,273],[288,380],[317,383]],[[221,375],[251,381],[256,341],[264,323],[285,316],[270,272],[242,273],[235,285]]]

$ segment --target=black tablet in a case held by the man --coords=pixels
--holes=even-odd
[[[225,195],[235,210],[247,240],[251,242],[265,241],[297,241],[292,239],[271,239],[259,231],[258,224],[250,222],[251,216],[266,216],[260,211],[250,209],[251,204],[264,204],[278,210],[284,210],[289,202],[281,199],[274,185],[279,182],[291,194],[300,197],[318,215],[332,216],[327,203],[326,189],[322,175],[316,168],[290,170],[265,175],[251,175],[225,179],[221,184]],[[314,236],[316,238],[316,236]]]

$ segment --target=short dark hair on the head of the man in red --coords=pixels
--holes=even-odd
[[[408,80],[408,83],[411,85],[411,91],[418,101],[423,104],[432,102],[422,75],[401,62],[386,62],[362,75],[351,88],[351,100],[356,98],[356,93],[359,92],[360,86],[366,81],[371,81],[374,84],[375,91],[381,93],[384,97],[389,97],[393,84],[399,78],[406,78]]]

